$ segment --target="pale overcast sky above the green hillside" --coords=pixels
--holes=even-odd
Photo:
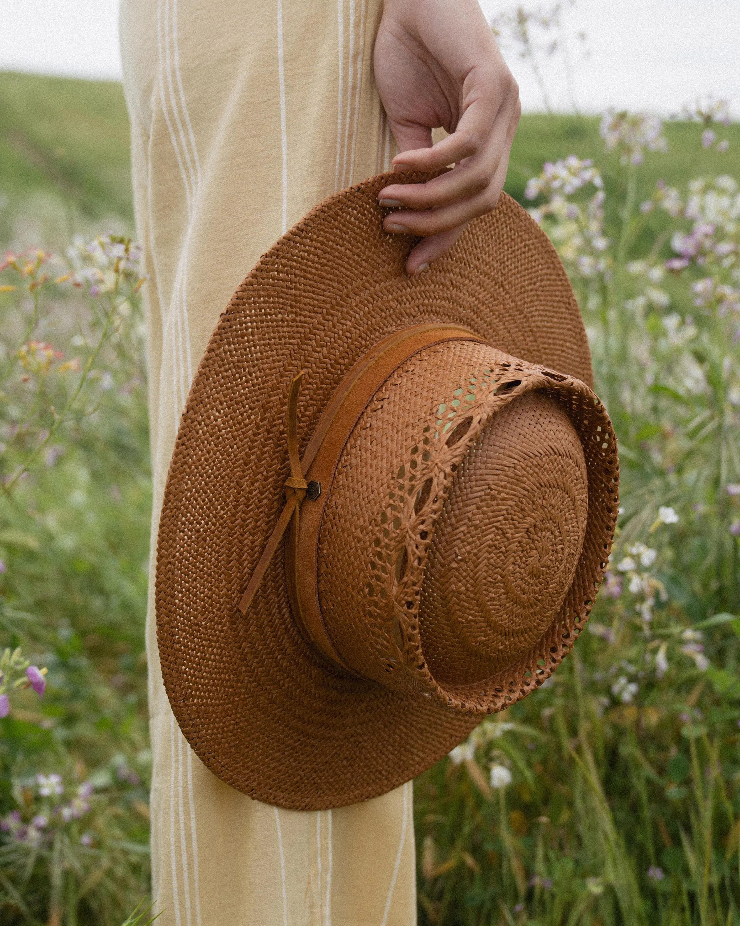
[[[524,0],[524,7],[553,3]],[[515,6],[481,4],[489,17]],[[553,108],[569,109],[573,95],[585,112],[616,106],[669,115],[711,93],[731,100],[740,116],[740,0],[576,0],[566,17],[573,94],[555,56],[544,68]],[[0,70],[120,79],[117,0],[0,0],[0,23]],[[585,46],[578,31],[586,32]],[[524,109],[542,109],[530,69],[511,47],[504,52]]]

